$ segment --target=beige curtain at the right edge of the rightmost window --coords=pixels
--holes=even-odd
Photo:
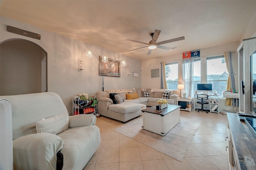
[[[228,70],[228,82],[227,82],[227,91],[230,90],[236,90],[235,87],[235,78],[233,74],[233,67],[232,67],[232,59],[231,59],[231,51],[224,53],[225,61],[226,61],[226,66]],[[231,98],[226,98],[226,105],[227,106],[232,106],[233,99]]]

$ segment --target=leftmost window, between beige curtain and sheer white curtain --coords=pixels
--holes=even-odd
[[[165,76],[167,89],[178,88],[178,62],[165,65]]]

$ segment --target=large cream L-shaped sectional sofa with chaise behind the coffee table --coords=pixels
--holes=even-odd
[[[140,117],[140,111],[143,106],[156,106],[159,99],[163,99],[162,96],[166,90],[164,89],[146,89],[149,92],[150,97],[142,97],[141,89],[136,88],[133,90],[107,90],[96,93],[98,101],[98,113],[112,119],[126,123],[130,119]],[[165,99],[169,104],[176,105],[177,94],[180,94],[180,90],[170,90],[170,98]],[[119,94],[124,102],[114,104],[110,99],[110,93]],[[127,99],[126,94],[138,94],[138,98]]]

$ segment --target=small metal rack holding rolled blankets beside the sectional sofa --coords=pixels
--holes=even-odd
[[[88,107],[93,107],[94,108],[94,112],[92,112],[90,114],[98,113],[96,95],[92,95],[91,98],[93,98],[93,100],[96,101],[96,104],[94,106],[80,107],[79,106],[79,101],[81,101],[80,97],[79,96],[72,97],[72,115],[75,115],[76,111],[78,111],[78,113],[80,113],[79,112],[80,109],[84,109],[84,108],[88,108]]]

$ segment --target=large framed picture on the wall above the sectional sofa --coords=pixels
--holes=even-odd
[[[100,75],[120,77],[120,61],[108,59],[107,63],[103,63],[100,57]]]

